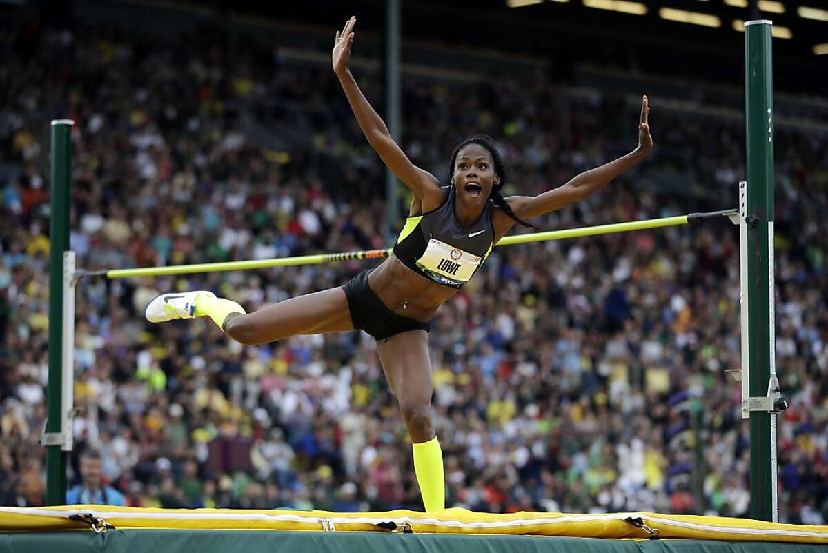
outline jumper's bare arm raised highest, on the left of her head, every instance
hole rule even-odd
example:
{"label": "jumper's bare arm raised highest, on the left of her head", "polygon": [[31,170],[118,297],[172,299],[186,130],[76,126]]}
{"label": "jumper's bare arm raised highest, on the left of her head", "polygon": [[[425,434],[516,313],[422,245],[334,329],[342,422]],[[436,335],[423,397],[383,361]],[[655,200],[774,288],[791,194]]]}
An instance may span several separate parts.
{"label": "jumper's bare arm raised highest, on the left of her head", "polygon": [[351,75],[348,60],[351,56],[351,45],[354,44],[352,31],[356,22],[357,18],[351,17],[345,22],[342,31],[336,31],[332,60],[334,72],[339,77],[339,83],[342,84],[351,109],[354,110],[359,128],[362,129],[368,139],[368,144],[378,153],[383,163],[399,180],[412,189],[417,198],[422,200],[430,194],[441,194],[440,183],[436,177],[415,166],[408,159],[402,148],[394,142],[383,119],[373,110],[368,99],[365,99],[362,91],[359,90],[354,75]]}

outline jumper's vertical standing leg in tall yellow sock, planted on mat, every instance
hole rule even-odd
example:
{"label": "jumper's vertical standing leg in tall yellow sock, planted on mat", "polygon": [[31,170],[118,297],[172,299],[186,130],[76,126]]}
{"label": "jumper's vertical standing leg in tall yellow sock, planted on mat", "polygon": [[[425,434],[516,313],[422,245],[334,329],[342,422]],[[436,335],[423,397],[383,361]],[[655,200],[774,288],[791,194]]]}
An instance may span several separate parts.
{"label": "jumper's vertical standing leg in tall yellow sock, planted on mat", "polygon": [[426,512],[445,508],[443,453],[431,426],[431,359],[425,330],[377,340],[379,361],[400,404],[414,447],[414,472]]}

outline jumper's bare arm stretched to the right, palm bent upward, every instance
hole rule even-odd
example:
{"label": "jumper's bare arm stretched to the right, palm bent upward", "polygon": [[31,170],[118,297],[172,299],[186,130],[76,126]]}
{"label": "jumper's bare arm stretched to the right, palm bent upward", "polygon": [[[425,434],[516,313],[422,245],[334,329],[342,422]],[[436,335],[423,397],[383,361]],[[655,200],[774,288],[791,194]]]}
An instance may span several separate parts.
{"label": "jumper's bare arm stretched to the right, palm bent upward", "polygon": [[566,185],[558,186],[541,195],[535,197],[509,196],[506,201],[518,217],[527,219],[561,209],[567,204],[584,200],[595,194],[595,192],[604,188],[610,180],[627,171],[650,153],[652,137],[650,136],[649,123],[647,123],[649,113],[649,102],[647,96],[644,96],[641,100],[641,121],[638,123],[638,147],[626,156],[595,167],[595,169],[590,169],[590,171],[584,171],[567,182]]}

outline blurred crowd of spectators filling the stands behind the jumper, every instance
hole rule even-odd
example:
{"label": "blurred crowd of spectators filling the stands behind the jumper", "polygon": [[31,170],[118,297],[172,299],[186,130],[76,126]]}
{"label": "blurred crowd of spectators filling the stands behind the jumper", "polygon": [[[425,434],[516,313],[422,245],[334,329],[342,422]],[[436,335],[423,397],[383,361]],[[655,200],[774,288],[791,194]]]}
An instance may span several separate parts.
{"label": "blurred crowd of spectators filling the stands behind the jumper", "polygon": [[[228,60],[199,36],[0,33],[0,158],[21,168],[0,182],[0,504],[35,506],[51,118],[76,121],[71,248],[88,269],[388,246],[383,166],[330,67],[255,46]],[[381,97],[376,75],[354,73]],[[403,147],[445,178],[455,143],[489,133],[511,166],[507,192],[524,195],[634,147],[634,103],[554,82],[407,78]],[[278,134],[269,106],[279,103],[298,106],[291,130],[310,147],[272,147],[245,130],[253,114]],[[538,228],[735,204],[744,123],[651,103],[652,156]],[[777,370],[791,399],[779,417],[780,520],[825,523],[828,144],[783,128],[776,137]],[[722,219],[495,249],[431,332],[447,504],[747,515],[749,430],[724,373],[739,367],[737,236]],[[101,479],[110,497],[141,507],[421,509],[367,334],[243,348],[209,320],[143,319],[159,291],[207,288],[249,312],[364,266],[81,281],[72,483]],[[82,454],[97,468],[82,470]]]}

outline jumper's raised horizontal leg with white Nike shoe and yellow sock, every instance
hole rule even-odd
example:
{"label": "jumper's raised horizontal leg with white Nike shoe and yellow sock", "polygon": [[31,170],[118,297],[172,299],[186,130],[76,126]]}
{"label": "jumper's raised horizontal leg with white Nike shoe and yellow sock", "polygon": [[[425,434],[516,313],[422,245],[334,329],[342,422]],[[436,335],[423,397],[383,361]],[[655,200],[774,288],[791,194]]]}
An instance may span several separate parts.
{"label": "jumper's raised horizontal leg with white Nike shoe and yellow sock", "polygon": [[165,294],[147,305],[147,320],[151,322],[199,316],[209,316],[230,338],[244,345],[267,344],[296,334],[354,329],[341,287],[280,301],[249,315],[235,301],[206,291]]}

